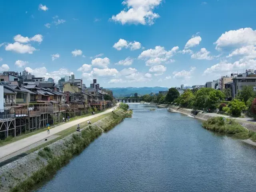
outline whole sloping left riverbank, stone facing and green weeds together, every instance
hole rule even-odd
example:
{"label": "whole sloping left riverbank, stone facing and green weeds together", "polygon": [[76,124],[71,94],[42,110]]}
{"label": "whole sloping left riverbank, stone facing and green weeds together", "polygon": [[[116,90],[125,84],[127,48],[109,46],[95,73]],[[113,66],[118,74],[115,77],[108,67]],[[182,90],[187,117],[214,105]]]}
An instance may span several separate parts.
{"label": "whole sloping left riverbank, stone facing and green weeds together", "polygon": [[59,168],[82,152],[90,142],[108,131],[132,111],[118,109],[113,114],[0,168],[0,192],[25,192],[54,174]]}

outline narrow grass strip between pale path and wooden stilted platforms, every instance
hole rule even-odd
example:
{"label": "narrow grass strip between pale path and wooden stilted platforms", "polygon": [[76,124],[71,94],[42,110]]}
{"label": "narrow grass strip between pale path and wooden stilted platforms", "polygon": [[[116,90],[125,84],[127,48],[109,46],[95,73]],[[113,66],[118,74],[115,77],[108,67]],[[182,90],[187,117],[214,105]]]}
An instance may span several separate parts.
{"label": "narrow grass strip between pale path and wooden stilted platforms", "polygon": [[[108,109],[106,109],[106,110],[108,110]],[[101,113],[101,112],[104,112],[104,111],[105,111],[105,110],[98,111],[98,112],[95,112],[95,114],[98,114],[98,113]],[[74,117],[74,118],[70,118],[69,121],[71,122],[71,121],[78,120],[78,119],[80,119],[80,118],[88,117],[88,116],[91,116],[91,115],[92,115],[92,114],[85,114],[85,115],[82,115],[82,116],[76,116],[76,117]],[[64,123],[66,123],[66,122],[64,122]],[[58,123],[58,124],[55,124],[55,125],[51,126],[51,128],[54,128],[55,126],[59,126],[59,125],[64,124],[64,123],[63,123],[63,122],[60,122],[60,123]],[[7,144],[10,144],[10,143],[12,143],[12,142],[16,142],[16,141],[18,141],[18,140],[27,138],[27,137],[29,137],[29,136],[38,134],[38,133],[40,133],[40,132],[44,132],[44,131],[46,131],[46,127],[40,128],[39,130],[36,130],[36,131],[27,132],[27,133],[22,133],[21,135],[16,136],[16,137],[9,136],[9,137],[7,137],[7,138],[4,139],[4,140],[0,140],[0,147],[1,147],[1,146],[4,146],[4,145],[7,145]]]}

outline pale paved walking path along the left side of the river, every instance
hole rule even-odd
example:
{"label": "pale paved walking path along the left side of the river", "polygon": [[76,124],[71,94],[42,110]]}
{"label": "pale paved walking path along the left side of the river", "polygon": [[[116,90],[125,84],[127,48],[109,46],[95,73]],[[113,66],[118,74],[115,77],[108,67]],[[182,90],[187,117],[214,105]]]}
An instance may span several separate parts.
{"label": "pale paved walking path along the left side of the river", "polygon": [[62,125],[59,125],[59,126],[55,126],[54,128],[50,129],[50,134],[47,134],[46,133],[46,130],[45,132],[40,132],[38,134],[35,134],[35,135],[32,135],[32,136],[29,136],[27,138],[24,138],[24,139],[21,139],[21,140],[18,140],[16,142],[12,142],[10,144],[7,144],[7,145],[4,145],[2,147],[0,147],[0,158],[3,158],[4,156],[7,156],[7,155],[10,155],[18,150],[21,150],[23,148],[26,148],[27,146],[30,146],[40,140],[43,140],[43,139],[46,139],[62,130],[65,130],[67,128],[70,128],[74,125],[77,125],[78,123],[82,123],[84,121],[87,121],[87,120],[90,120],[94,117],[98,117],[100,115],[103,115],[103,114],[106,114],[106,113],[109,113],[109,112],[112,112],[112,109],[108,109],[104,112],[101,112],[101,113],[98,113],[98,114],[95,114],[95,115],[91,115],[91,116],[87,116],[87,117],[84,117],[84,118],[80,118],[78,120],[74,120],[74,121],[71,121],[71,122],[67,122],[67,123],[64,123]]}

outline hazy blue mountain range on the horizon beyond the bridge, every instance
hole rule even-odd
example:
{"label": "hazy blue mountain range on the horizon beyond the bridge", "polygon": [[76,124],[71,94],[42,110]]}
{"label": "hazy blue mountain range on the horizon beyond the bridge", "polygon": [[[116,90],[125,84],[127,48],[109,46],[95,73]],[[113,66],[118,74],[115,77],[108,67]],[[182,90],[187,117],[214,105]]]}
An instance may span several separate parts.
{"label": "hazy blue mountain range on the horizon beyond the bridge", "polygon": [[134,93],[138,95],[145,95],[150,93],[158,93],[159,91],[166,91],[167,87],[126,87],[126,88],[107,88],[113,91],[114,97],[129,97]]}

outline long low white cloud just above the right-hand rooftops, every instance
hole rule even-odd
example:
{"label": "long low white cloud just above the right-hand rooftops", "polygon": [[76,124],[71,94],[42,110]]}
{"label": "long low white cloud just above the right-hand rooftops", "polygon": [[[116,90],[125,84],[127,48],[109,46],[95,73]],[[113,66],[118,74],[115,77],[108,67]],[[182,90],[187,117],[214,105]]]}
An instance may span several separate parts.
{"label": "long low white cloud just above the right-hand rooftops", "polygon": [[245,58],[242,58],[239,61],[236,61],[234,63],[230,63],[224,60],[219,62],[218,64],[211,66],[210,68],[207,68],[204,71],[204,75],[209,75],[209,74],[227,75],[232,72],[237,72],[237,71],[242,72],[244,68],[256,68],[256,60],[253,60],[253,59],[247,60]]}

